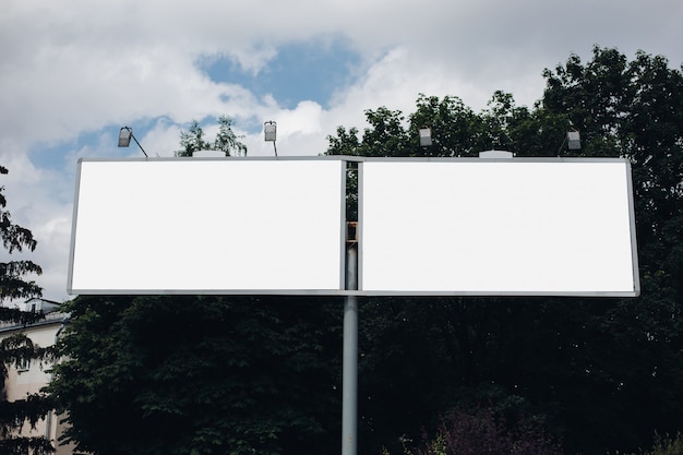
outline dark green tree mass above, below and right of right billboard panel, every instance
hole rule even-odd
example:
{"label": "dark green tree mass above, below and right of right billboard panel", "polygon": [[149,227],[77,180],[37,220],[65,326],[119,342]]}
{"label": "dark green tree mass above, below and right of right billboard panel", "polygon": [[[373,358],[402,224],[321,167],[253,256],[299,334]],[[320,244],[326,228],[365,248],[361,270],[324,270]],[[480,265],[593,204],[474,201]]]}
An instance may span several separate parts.
{"label": "dark green tree mass above, below and right of right billboard panel", "polygon": [[[559,147],[577,129],[580,156],[633,165],[642,296],[368,299],[359,366],[366,446],[399,450],[400,435],[436,426],[439,414],[489,400],[587,454],[646,446],[654,430],[683,422],[682,73],[663,57],[628,61],[596,47],[590,61],[571,56],[543,74],[543,99],[531,109],[503,92],[480,113],[457,98],[420,96],[407,122],[380,108],[367,111],[361,136],[339,128],[328,153],[567,156]],[[420,125],[432,127],[432,147],[419,147]]]}

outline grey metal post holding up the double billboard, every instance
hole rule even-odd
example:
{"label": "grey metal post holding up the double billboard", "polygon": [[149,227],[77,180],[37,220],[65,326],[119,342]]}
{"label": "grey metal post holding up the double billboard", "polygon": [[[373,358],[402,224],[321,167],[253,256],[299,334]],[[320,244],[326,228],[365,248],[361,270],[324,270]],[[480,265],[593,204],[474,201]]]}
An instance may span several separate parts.
{"label": "grey metal post holding up the double billboard", "polygon": [[[346,288],[358,289],[358,243],[347,242]],[[342,455],[358,447],[358,297],[344,298],[344,364],[342,382]]]}

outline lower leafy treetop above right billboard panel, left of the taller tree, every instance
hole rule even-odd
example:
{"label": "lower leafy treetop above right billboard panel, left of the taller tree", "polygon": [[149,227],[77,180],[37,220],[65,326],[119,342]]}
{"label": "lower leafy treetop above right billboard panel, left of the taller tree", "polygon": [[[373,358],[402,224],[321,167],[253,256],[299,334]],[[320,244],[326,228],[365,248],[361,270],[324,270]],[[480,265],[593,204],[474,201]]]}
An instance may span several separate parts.
{"label": "lower leafy treetop above right billboard panel, left of the taller tree", "polygon": [[[488,149],[508,149],[520,156],[553,156],[566,133],[566,115],[515,105],[512,94],[495,92],[488,108],[475,113],[454,96],[420,95],[416,111],[406,117],[381,107],[367,110],[370,124],[338,127],[327,137],[327,155],[472,157]],[[430,127],[432,143],[419,145],[418,130]]]}

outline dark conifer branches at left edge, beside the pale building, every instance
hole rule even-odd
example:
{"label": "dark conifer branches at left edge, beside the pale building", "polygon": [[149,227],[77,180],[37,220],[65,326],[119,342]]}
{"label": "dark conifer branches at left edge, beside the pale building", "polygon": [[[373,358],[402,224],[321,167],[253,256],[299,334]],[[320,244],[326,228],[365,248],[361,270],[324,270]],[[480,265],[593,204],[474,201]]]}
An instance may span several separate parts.
{"label": "dark conifer branches at left edge, beside the pale building", "polygon": [[[0,175],[7,175],[8,169],[0,166]],[[10,212],[5,211],[7,199],[0,187],[0,236],[2,244],[11,254],[22,252],[24,248],[34,251],[37,241],[31,230],[12,221]],[[40,287],[35,282],[25,280],[24,275],[40,274],[40,266],[32,261],[9,261],[0,263],[0,321],[17,324],[31,324],[41,318],[40,314],[25,313],[15,309],[4,308],[5,300],[31,298],[40,296]],[[45,436],[19,436],[17,432],[28,423],[35,428],[38,420],[44,419],[52,409],[49,397],[44,394],[28,395],[24,400],[8,402],[4,391],[4,379],[8,368],[12,364],[32,359],[49,358],[51,351],[41,349],[23,333],[11,335],[0,342],[0,453],[17,455],[41,455],[51,453],[55,448]]]}

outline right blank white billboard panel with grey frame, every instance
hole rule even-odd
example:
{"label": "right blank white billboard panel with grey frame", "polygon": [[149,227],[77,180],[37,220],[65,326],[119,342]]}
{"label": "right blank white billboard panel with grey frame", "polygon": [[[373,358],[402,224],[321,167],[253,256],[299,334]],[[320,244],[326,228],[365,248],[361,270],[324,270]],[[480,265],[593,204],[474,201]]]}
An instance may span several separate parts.
{"label": "right blank white billboard panel with grey frame", "polygon": [[360,185],[369,295],[639,291],[625,160],[369,160]]}

